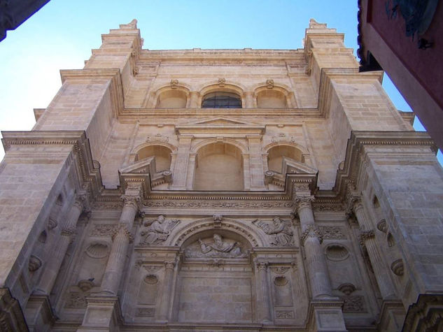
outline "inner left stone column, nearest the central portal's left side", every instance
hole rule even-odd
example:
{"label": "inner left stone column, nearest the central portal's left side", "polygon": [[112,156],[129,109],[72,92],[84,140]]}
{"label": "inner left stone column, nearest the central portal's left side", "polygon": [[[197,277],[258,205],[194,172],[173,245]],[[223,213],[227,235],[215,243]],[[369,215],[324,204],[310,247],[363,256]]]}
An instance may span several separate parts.
{"label": "inner left stone column, nearest the central portal's left side", "polygon": [[126,252],[132,241],[131,230],[134,225],[136,212],[139,210],[140,196],[124,195],[124,202],[120,221],[113,235],[113,244],[108,263],[104,272],[101,289],[105,293],[115,295],[125,266]]}

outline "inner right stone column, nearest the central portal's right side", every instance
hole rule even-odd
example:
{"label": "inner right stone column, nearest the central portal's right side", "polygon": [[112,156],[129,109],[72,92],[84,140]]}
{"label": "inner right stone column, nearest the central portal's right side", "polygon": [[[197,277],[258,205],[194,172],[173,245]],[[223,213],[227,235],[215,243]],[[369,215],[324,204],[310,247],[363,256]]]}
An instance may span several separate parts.
{"label": "inner right stone column, nearest the central portal's right side", "polygon": [[332,289],[325,255],[321,248],[323,237],[314,224],[311,201],[314,201],[314,196],[297,196],[296,198],[297,212],[302,226],[301,242],[306,254],[312,298],[330,298]]}

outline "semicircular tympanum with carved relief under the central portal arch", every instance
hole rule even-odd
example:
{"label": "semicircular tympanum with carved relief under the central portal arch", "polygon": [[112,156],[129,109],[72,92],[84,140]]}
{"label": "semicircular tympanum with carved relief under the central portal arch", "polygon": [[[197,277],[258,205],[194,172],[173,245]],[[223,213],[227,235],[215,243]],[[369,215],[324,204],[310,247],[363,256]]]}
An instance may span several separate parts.
{"label": "semicircular tympanum with carved relief under the central portal arch", "polygon": [[245,259],[252,245],[239,233],[206,229],[192,234],[181,245],[186,259]]}

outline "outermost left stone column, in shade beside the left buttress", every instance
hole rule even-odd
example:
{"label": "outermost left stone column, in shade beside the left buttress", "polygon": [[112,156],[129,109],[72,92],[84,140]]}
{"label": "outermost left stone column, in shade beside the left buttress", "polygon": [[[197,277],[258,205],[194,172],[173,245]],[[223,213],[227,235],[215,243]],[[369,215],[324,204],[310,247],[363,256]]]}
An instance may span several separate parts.
{"label": "outermost left stone column, in shade beside the left buttress", "polygon": [[85,196],[77,196],[71,209],[69,210],[66,224],[62,229],[62,234],[55,245],[50,260],[48,261],[43,275],[40,278],[36,293],[37,294],[50,294],[52,287],[54,286],[55,279],[59,273],[60,266],[64,259],[64,255],[68,250],[69,243],[73,241],[76,234],[76,224],[80,217],[83,208],[85,207]]}

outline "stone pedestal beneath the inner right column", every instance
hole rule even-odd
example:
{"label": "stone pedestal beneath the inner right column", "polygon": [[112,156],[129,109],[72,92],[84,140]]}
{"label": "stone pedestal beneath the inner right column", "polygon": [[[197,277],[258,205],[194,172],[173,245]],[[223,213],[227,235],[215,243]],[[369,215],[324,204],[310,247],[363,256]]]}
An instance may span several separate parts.
{"label": "stone pedestal beneath the inner right column", "polygon": [[343,301],[319,300],[309,303],[310,331],[348,331],[342,312]]}

